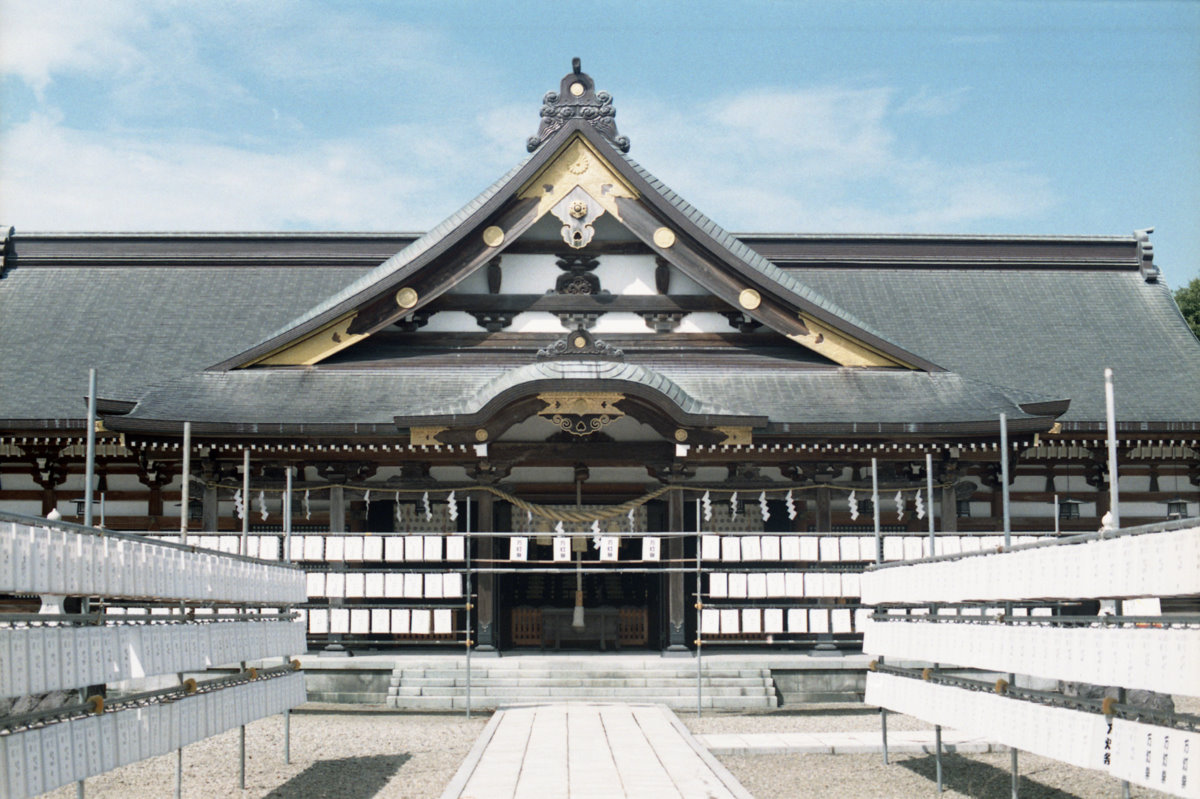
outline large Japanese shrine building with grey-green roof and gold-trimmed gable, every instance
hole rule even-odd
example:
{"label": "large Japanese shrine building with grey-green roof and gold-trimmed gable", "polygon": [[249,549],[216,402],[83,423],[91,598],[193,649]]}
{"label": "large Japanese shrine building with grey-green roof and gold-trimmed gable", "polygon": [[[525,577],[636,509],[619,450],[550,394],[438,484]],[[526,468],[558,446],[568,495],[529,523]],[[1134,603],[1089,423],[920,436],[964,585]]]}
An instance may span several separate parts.
{"label": "large Japanese shrine building with grey-green roof and gold-trimmed gable", "polygon": [[[246,528],[278,558],[289,509],[314,645],[545,645],[578,602],[626,648],[853,645],[812,614],[858,607],[876,513],[889,558],[928,552],[929,515],[955,548],[995,543],[1001,416],[1014,535],[1099,528],[1111,368],[1122,524],[1196,513],[1200,342],[1150,232],[727,233],[630,156],[577,60],[534,127],[420,235],[11,220],[0,511],[83,519],[95,370],[95,518],[182,515],[220,548]],[[701,601],[757,620],[700,630]]]}

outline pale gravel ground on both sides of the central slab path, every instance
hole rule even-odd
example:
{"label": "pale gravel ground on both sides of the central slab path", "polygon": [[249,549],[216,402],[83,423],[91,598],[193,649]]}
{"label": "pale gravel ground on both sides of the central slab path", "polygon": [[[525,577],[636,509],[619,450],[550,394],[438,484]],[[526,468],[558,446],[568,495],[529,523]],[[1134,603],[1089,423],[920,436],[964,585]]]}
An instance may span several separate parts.
{"label": "pale gravel ground on both sides of the central slab path", "polygon": [[[1182,709],[1182,708],[1181,708]],[[1190,708],[1189,708],[1190,709]],[[694,733],[878,731],[878,713],[858,704],[812,705],[800,710],[696,719],[680,713]],[[424,799],[442,794],[486,716],[408,714],[344,705],[305,707],[292,716],[292,764],[283,763],[281,716],[246,728],[246,791],[238,791],[238,732],[192,744],[184,750],[185,798],[253,797],[269,799]],[[928,729],[896,714],[889,729]],[[883,765],[878,755],[760,755],[719,758],[757,799],[930,799],[934,758],[896,755]],[[947,755],[947,799],[1009,799],[1009,757]],[[1121,795],[1120,783],[1090,771],[1022,752],[1022,799],[1100,799]],[[175,757],[156,757],[92,777],[89,799],[157,799],[173,795]],[[73,787],[54,799],[73,799]],[[1133,788],[1133,795],[1165,794]],[[545,799],[554,799],[546,797]]]}

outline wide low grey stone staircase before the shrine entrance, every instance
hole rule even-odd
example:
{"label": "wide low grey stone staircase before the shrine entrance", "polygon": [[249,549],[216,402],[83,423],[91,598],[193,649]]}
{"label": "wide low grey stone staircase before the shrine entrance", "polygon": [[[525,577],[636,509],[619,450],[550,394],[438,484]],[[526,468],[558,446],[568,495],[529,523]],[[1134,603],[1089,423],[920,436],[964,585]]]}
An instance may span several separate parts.
{"label": "wide low grey stone staircase before the shrine entrance", "polygon": [[[656,702],[672,709],[696,708],[696,663],[661,657],[623,659],[476,659],[470,669],[470,707],[494,709],[533,702]],[[404,710],[452,710],[467,707],[467,669],[461,663],[414,667],[401,663],[391,674],[388,707]],[[761,665],[707,666],[701,678],[701,707],[761,710],[778,707],[770,669]]]}

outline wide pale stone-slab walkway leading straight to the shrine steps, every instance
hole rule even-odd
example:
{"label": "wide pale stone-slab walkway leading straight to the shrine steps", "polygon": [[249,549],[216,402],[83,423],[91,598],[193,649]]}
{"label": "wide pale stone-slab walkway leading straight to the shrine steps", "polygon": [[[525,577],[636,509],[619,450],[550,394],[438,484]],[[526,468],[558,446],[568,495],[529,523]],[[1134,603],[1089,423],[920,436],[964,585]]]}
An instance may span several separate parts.
{"label": "wide pale stone-slab walkway leading straight to the shrine steps", "polygon": [[656,704],[503,708],[442,799],[751,799]]}

